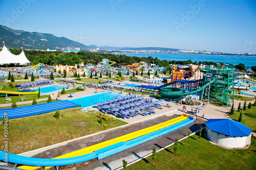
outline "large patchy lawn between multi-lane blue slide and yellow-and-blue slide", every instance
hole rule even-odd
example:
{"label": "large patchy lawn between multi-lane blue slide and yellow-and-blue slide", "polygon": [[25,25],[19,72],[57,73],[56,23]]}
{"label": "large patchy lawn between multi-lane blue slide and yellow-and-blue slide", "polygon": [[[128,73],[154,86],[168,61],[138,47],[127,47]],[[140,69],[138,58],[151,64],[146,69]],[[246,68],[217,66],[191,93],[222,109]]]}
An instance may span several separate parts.
{"label": "large patchy lawn between multi-lane blue slide and yellow-and-blue slide", "polygon": [[[105,129],[112,129],[125,122],[103,119],[99,124],[99,112],[81,112],[81,108],[60,110],[60,117],[54,118],[55,112],[9,120],[9,153],[20,154],[34,149],[47,147],[55,143],[86,136]],[[104,117],[104,116],[102,116]],[[104,129],[103,125],[107,125]],[[4,150],[4,127],[0,124],[0,150]]]}

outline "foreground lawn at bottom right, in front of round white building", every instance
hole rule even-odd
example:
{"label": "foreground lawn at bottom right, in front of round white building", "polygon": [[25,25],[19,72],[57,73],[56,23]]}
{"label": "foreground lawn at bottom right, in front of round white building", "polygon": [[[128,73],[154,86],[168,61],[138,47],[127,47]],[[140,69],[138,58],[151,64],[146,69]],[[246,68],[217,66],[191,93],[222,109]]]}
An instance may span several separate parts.
{"label": "foreground lawn at bottom right, in front of round white building", "polygon": [[[153,150],[154,145],[152,145]],[[136,162],[126,169],[255,169],[256,139],[251,139],[251,145],[246,150],[227,150],[211,144],[208,140],[193,135],[182,140],[177,145],[174,155],[174,145],[156,153],[153,166],[152,157],[149,156]]]}

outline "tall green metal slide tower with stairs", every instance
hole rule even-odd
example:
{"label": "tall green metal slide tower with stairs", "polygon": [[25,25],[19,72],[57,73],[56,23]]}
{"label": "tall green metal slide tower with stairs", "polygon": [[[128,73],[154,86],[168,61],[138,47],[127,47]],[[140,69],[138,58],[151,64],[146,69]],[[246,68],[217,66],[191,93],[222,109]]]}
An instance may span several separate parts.
{"label": "tall green metal slide tower with stairs", "polygon": [[[234,102],[234,69],[233,66],[205,67],[200,69],[205,77],[212,74],[212,82],[209,86],[202,89],[201,100],[203,96],[208,98],[209,103],[222,104],[228,106],[230,99]],[[210,80],[205,79],[204,84]]]}

